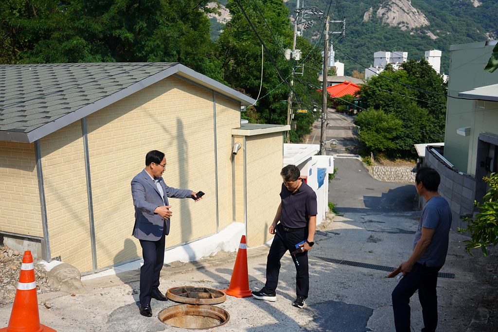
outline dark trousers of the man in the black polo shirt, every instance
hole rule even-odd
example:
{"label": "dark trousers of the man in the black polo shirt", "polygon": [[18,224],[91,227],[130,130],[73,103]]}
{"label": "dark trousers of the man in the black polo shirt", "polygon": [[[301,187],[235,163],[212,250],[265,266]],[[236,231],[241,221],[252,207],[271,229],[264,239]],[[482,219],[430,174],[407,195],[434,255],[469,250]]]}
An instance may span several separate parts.
{"label": "dark trousers of the man in the black polo shirt", "polygon": [[[270,294],[277,289],[278,274],[280,273],[280,259],[288,250],[296,250],[296,244],[302,242],[308,237],[308,229],[296,232],[286,232],[282,225],[276,227],[277,233],[271,242],[270,251],[266,260],[266,283],[261,292]],[[299,266],[296,264],[296,259]],[[308,274],[308,252],[301,252],[292,257],[296,267],[296,295],[305,299],[309,292],[309,274]]]}

